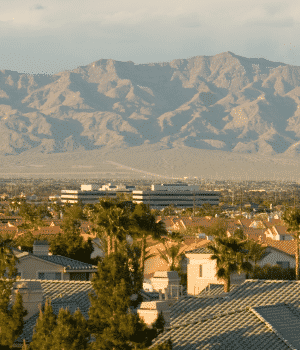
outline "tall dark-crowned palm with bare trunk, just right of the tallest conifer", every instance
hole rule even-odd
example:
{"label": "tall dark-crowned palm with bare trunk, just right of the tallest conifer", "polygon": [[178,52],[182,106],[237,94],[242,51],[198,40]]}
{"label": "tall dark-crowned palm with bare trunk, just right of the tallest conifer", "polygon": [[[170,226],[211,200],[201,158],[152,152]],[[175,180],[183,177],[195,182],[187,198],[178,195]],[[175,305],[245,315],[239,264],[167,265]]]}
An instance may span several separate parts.
{"label": "tall dark-crowned palm with bare trunk, just right of the tallest conifer", "polygon": [[[146,260],[147,238],[151,236],[154,240],[160,240],[161,236],[167,235],[164,222],[156,222],[155,215],[151,213],[149,206],[141,203],[137,204],[132,214],[134,226],[132,235],[135,239],[141,239],[141,269],[144,273]],[[148,259],[152,256],[148,256]]]}

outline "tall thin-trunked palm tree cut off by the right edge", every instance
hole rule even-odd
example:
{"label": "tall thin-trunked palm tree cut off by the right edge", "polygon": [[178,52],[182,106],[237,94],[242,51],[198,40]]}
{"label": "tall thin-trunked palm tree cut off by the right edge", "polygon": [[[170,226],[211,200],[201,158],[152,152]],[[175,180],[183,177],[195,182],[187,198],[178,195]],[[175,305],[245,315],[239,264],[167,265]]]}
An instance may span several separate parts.
{"label": "tall thin-trunked palm tree cut off by the right edge", "polygon": [[287,226],[287,232],[293,236],[296,244],[295,258],[295,276],[299,280],[299,234],[300,234],[300,210],[298,208],[287,209],[282,217]]}

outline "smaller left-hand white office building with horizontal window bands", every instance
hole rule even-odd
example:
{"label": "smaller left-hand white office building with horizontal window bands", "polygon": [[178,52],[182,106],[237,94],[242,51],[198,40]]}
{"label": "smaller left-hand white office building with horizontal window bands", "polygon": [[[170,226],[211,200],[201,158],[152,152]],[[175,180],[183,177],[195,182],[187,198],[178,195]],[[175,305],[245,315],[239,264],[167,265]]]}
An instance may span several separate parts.
{"label": "smaller left-hand white office building with horizontal window bands", "polygon": [[81,190],[61,190],[62,203],[78,203],[80,200],[83,204],[98,203],[100,198],[115,198],[116,192],[100,191],[96,189],[97,185],[81,185]]}

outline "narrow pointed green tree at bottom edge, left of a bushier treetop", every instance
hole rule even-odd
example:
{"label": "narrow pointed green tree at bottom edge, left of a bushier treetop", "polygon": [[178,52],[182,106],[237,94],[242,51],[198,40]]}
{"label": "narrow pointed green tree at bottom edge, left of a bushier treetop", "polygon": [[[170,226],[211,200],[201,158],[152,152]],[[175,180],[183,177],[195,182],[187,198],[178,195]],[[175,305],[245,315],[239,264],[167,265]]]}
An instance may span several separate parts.
{"label": "narrow pointed green tree at bottom edge, left of a bushier treetop", "polygon": [[56,327],[57,316],[54,314],[51,301],[47,300],[44,312],[41,309],[34,327],[30,350],[52,350],[53,332]]}

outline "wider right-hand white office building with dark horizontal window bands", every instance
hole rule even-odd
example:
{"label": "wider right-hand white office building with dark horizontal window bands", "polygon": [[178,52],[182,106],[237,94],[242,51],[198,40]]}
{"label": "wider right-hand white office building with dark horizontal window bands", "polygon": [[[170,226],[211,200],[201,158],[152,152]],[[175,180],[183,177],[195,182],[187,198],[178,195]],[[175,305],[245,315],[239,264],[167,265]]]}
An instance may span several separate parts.
{"label": "wider right-hand white office building with dark horizontal window bands", "polygon": [[152,209],[163,209],[170,204],[177,208],[201,207],[204,203],[218,205],[219,192],[200,191],[199,186],[185,183],[152,185],[148,191],[133,191],[135,203],[149,204]]}

